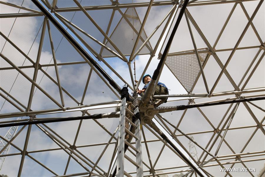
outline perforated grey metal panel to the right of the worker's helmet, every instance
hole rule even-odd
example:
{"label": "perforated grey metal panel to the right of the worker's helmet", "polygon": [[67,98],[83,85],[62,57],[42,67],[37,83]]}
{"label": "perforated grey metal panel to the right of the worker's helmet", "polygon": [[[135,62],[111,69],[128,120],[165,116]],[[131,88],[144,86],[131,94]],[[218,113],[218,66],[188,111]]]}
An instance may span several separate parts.
{"label": "perforated grey metal panel to the right of the worker's helmet", "polygon": [[[199,55],[201,56],[200,62],[202,64],[207,53],[200,53]],[[190,91],[200,72],[196,54],[169,56],[167,57],[166,64],[185,89]]]}

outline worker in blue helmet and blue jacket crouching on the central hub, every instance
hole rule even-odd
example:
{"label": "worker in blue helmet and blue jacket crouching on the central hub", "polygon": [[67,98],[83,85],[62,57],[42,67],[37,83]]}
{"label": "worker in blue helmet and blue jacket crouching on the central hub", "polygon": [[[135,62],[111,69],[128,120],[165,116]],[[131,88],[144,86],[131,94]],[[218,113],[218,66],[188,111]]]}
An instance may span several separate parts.
{"label": "worker in blue helmet and blue jacket crouching on the central hub", "polygon": [[[151,81],[151,76],[149,74],[145,74],[142,79],[145,86],[142,90],[138,90],[138,94],[144,94],[145,90],[149,86],[149,82]],[[168,88],[165,86],[165,84],[158,81],[157,86],[155,87],[155,93],[154,95],[168,95]],[[153,99],[153,103],[155,107],[158,107],[162,103],[166,103],[168,98],[155,98]]]}

